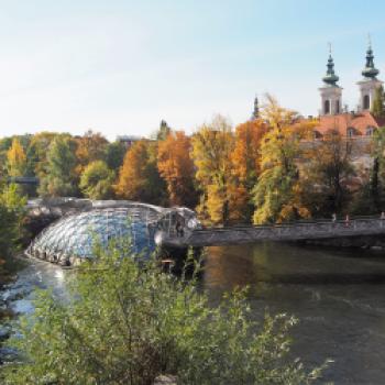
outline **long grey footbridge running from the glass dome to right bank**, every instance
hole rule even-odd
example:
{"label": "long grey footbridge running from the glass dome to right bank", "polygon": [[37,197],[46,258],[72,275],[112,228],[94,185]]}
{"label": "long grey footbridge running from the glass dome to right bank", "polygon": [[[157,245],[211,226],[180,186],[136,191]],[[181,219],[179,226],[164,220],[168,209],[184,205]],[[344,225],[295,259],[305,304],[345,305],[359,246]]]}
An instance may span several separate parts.
{"label": "long grey footbridge running from the glass dome to right bank", "polygon": [[[349,221],[312,221],[273,226],[234,226],[223,228],[166,229],[157,234],[157,243],[166,246],[210,246],[258,241],[321,241],[385,235],[385,219],[361,217]],[[315,242],[317,243],[317,242]]]}

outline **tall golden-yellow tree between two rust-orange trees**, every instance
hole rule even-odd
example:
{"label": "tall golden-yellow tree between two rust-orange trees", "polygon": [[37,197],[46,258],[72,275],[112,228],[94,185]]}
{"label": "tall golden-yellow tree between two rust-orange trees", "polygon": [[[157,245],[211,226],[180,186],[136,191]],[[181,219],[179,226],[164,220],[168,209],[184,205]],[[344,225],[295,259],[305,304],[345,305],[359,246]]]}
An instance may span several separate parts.
{"label": "tall golden-yellow tree between two rust-orange trees", "polygon": [[198,212],[213,223],[227,223],[232,212],[231,154],[234,138],[230,123],[221,116],[204,124],[193,135],[191,156],[201,190]]}

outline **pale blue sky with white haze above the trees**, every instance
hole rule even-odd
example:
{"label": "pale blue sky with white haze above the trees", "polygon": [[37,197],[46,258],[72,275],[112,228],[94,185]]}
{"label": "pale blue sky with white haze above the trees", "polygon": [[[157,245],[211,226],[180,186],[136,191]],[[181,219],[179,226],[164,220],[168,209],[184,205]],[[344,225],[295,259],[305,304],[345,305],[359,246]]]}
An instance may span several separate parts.
{"label": "pale blue sky with white haze above the trees", "polygon": [[328,42],[353,109],[369,33],[385,80],[384,14],[383,0],[0,0],[0,136],[191,132],[244,122],[266,92],[317,114]]}

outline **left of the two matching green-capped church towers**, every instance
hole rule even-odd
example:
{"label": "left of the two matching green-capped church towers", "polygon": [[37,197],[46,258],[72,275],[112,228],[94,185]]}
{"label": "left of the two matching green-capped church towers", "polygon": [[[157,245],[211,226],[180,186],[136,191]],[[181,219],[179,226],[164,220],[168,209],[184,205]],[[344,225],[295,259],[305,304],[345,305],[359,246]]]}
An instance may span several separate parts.
{"label": "left of the two matching green-capped church towers", "polygon": [[342,88],[337,84],[339,77],[334,74],[334,62],[331,57],[331,50],[327,67],[327,74],[322,78],[323,86],[319,88],[322,102],[321,114],[334,116],[341,113]]}

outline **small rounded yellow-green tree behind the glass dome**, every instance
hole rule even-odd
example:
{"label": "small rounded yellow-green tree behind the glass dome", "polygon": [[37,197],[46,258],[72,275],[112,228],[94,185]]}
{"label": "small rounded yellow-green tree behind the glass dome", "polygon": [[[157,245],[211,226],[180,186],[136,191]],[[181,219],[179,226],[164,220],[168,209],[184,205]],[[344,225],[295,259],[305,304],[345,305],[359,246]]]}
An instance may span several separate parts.
{"label": "small rounded yellow-green tree behind the glass dome", "polygon": [[90,199],[108,199],[112,196],[114,173],[103,161],[91,162],[80,176],[80,190]]}

